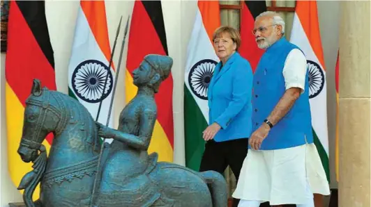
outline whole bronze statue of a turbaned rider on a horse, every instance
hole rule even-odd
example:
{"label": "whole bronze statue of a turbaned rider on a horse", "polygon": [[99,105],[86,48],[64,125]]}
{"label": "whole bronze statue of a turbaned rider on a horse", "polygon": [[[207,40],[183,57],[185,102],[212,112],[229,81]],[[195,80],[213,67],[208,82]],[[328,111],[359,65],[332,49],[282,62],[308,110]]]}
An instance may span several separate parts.
{"label": "whole bronze statue of a turbaned rider on a horse", "polygon": [[[157,162],[157,154],[147,152],[157,117],[154,95],[171,67],[172,58],[148,55],[132,72],[138,91],[123,108],[118,130],[94,122],[77,100],[42,89],[34,80],[18,149],[24,162],[33,162],[33,171],[18,187],[24,189],[26,206],[226,207],[221,174]],[[54,133],[54,140],[47,158],[41,143],[48,133]],[[98,167],[100,137],[114,141],[104,144]],[[38,183],[40,199],[32,201]]]}

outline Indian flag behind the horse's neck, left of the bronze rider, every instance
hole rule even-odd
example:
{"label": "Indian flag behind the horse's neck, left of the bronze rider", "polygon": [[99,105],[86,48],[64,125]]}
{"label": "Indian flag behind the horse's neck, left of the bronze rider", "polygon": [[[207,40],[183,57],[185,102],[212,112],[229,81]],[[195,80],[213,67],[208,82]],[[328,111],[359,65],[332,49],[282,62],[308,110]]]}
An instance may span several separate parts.
{"label": "Indian flag behind the horse's neck, left of the bronze rider", "polygon": [[[108,69],[110,58],[105,1],[80,1],[68,65],[68,94],[82,103],[93,119],[98,117],[98,122],[104,125],[107,124],[115,81],[113,64]],[[101,108],[100,101],[103,101]],[[113,126],[112,113],[108,126]]]}

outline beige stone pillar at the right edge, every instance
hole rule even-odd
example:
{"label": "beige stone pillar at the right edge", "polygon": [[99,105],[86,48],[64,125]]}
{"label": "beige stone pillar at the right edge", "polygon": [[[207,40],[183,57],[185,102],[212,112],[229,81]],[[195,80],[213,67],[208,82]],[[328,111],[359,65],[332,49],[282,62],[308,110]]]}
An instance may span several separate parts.
{"label": "beige stone pillar at the right edge", "polygon": [[340,4],[339,206],[370,207],[370,1]]}

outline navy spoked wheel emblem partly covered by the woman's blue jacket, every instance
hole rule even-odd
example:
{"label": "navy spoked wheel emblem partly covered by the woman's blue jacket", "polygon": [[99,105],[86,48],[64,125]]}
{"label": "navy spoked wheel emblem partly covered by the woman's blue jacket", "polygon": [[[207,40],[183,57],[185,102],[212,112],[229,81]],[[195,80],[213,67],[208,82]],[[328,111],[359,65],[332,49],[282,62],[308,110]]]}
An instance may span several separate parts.
{"label": "navy spoked wheel emblem partly covered by the woman's blue jacket", "polygon": [[188,83],[196,97],[207,100],[207,90],[216,64],[215,60],[205,59],[200,60],[190,69]]}

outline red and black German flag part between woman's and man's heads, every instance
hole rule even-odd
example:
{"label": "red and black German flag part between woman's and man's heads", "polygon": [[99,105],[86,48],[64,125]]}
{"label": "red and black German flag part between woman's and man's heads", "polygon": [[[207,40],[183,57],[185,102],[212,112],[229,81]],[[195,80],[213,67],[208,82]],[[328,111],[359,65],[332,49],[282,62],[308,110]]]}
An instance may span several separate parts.
{"label": "red and black German flag part between woman's and man's heads", "polygon": [[255,18],[266,11],[266,1],[244,1],[241,11],[241,47],[239,53],[246,58],[255,72],[264,50],[257,47],[255,36],[252,34]]}

